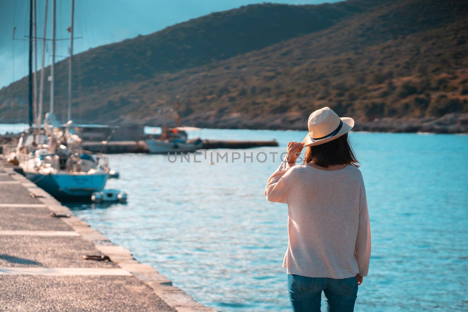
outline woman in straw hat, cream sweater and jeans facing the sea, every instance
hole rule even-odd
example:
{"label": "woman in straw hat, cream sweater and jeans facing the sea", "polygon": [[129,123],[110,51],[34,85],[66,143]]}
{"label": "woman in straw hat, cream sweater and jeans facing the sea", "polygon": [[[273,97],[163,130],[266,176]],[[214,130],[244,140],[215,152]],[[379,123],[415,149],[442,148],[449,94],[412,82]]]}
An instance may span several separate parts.
{"label": "woman in straw hat, cream sweater and jeans facing the sea", "polygon": [[[348,142],[354,126],[329,107],[314,111],[309,133],[289,142],[288,156],[271,175],[265,196],[288,204],[288,273],[292,311],[354,310],[358,285],[367,276],[371,232],[366,189]],[[308,146],[304,164],[295,165]]]}

